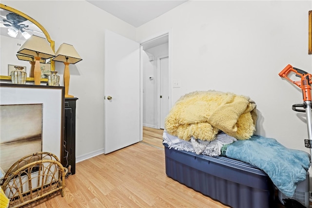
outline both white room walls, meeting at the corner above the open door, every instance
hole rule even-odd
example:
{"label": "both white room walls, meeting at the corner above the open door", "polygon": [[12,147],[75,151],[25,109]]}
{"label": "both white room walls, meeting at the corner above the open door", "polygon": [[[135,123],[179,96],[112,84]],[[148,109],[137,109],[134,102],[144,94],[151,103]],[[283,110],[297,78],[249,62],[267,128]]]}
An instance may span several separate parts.
{"label": "both white room walls, meeting at the corner above the open door", "polygon": [[[257,134],[308,151],[303,142],[307,138],[304,116],[292,111],[292,104],[302,103],[301,90],[278,73],[287,64],[312,73],[312,56],[308,55],[310,0],[191,0],[137,29],[81,0],[1,3],[39,21],[56,49],[63,42],[73,44],[83,59],[70,65],[69,94],[79,98],[78,158],[104,146],[105,28],[137,42],[172,29],[172,80],[181,81],[180,88],[172,88],[172,104],[195,90],[250,96],[259,113]],[[63,68],[62,63],[56,64],[61,77]]]}

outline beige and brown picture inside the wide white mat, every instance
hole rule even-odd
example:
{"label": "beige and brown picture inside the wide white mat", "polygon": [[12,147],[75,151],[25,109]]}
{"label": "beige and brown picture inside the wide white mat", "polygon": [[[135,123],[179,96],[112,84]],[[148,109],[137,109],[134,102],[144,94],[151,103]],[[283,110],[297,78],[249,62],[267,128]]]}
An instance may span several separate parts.
{"label": "beige and brown picture inside the wide white mat", "polygon": [[7,172],[21,157],[42,152],[42,104],[0,105],[0,119],[0,163]]}

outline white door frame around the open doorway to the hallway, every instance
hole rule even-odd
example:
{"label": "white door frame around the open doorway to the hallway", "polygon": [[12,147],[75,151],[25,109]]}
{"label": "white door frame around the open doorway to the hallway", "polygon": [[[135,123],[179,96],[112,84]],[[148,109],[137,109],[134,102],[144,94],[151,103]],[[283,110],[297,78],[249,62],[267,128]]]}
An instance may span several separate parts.
{"label": "white door frame around the open doorway to the hallway", "polygon": [[[155,34],[153,36],[148,37],[147,39],[142,40],[140,43],[140,141],[143,140],[143,47],[142,44],[155,41],[158,38],[161,38],[163,36],[168,35],[168,62],[169,62],[169,70],[168,70],[168,80],[169,80],[169,86],[168,86],[168,94],[169,94],[169,109],[172,107],[172,28],[170,30]],[[157,66],[158,67],[158,66]],[[158,70],[158,69],[157,69]],[[157,72],[158,73],[158,72]],[[157,103],[160,108],[160,98],[159,98],[159,87],[157,86]],[[158,106],[157,106],[158,107]],[[158,113],[160,114],[160,111],[158,110]],[[157,114],[158,114],[157,113]],[[159,120],[160,115],[157,115],[157,118]],[[157,127],[160,127],[160,121],[157,122]]]}

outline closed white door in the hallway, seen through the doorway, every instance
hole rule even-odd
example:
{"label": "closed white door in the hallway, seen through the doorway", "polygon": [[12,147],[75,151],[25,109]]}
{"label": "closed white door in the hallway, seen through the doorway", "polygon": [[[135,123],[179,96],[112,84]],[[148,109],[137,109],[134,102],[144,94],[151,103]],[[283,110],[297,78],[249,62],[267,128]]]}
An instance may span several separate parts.
{"label": "closed white door in the hallway, seen through the doorway", "polygon": [[165,128],[169,113],[169,58],[160,59],[160,128]]}

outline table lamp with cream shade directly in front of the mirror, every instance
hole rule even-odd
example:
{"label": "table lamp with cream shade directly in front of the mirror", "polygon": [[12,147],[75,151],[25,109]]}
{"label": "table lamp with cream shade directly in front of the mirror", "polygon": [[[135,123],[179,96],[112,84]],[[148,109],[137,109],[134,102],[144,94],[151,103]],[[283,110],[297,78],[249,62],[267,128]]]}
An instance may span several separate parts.
{"label": "table lamp with cream shade directly in front of the mirror", "polygon": [[55,53],[52,50],[49,42],[45,38],[32,35],[20,47],[18,53],[35,58],[36,62],[34,67],[34,81],[36,85],[40,85],[41,79],[40,59],[41,58],[50,59],[52,57],[55,57]]}

